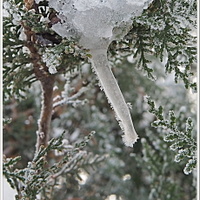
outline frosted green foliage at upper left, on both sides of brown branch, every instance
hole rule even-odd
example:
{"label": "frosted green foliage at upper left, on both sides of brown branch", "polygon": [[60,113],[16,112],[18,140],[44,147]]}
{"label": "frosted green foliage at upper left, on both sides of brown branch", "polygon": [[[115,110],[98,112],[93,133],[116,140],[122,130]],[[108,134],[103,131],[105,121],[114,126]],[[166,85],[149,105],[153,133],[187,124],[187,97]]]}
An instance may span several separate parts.
{"label": "frosted green foliage at upper left, on both sides of brown branch", "polygon": [[[54,60],[60,60],[59,73],[74,70],[80,62],[85,61],[87,56],[74,42],[62,40],[55,34],[46,22],[44,17],[52,12],[48,4],[39,4],[38,13],[26,11],[23,1],[9,0],[4,4],[5,16],[3,16],[3,89],[4,99],[10,97],[20,99],[25,96],[27,89],[37,79],[33,71],[33,64],[30,62],[30,51],[27,48],[24,26],[32,27],[37,44],[33,44],[38,52],[59,55]],[[45,36],[47,35],[47,36]],[[45,39],[50,37],[50,39]],[[43,55],[44,56],[44,55]],[[15,77],[13,79],[13,77]]]}

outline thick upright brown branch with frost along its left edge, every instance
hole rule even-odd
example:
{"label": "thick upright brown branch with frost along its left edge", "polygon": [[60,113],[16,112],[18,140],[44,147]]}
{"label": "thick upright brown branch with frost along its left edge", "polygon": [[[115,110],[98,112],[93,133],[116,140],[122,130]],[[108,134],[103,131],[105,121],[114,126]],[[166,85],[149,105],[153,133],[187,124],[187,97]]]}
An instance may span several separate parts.
{"label": "thick upright brown branch with frost along its left edge", "polygon": [[40,118],[38,120],[37,143],[36,151],[41,146],[47,146],[50,124],[53,109],[53,86],[55,82],[55,75],[48,72],[48,67],[41,61],[41,55],[38,53],[38,48],[35,45],[35,33],[30,27],[22,23],[24,32],[27,37],[26,46],[30,51],[30,58],[33,64],[36,78],[40,81],[42,87],[42,108]]}

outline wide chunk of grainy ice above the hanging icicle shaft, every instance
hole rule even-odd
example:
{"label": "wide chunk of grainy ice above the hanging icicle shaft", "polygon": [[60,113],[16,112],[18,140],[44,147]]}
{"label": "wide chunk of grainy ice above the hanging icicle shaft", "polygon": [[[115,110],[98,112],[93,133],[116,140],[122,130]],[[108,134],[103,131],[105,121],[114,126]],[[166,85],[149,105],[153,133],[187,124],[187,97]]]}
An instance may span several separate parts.
{"label": "wide chunk of grainy ice above the hanging icicle shaft", "polygon": [[[71,38],[80,38],[88,49],[107,48],[110,42],[124,37],[131,28],[131,18],[142,13],[152,0],[49,0],[49,6],[59,12],[61,24],[53,29]],[[118,27],[119,31],[113,31]],[[126,28],[125,28],[126,27]]]}

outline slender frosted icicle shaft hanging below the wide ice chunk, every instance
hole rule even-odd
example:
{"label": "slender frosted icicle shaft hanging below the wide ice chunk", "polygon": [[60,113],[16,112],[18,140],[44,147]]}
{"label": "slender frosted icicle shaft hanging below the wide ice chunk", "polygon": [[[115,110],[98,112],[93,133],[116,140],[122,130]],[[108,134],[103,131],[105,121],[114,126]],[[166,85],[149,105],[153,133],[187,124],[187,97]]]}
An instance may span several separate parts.
{"label": "slender frosted icicle shaft hanging below the wide ice chunk", "polygon": [[126,104],[117,81],[109,67],[106,49],[91,50],[91,62],[99,78],[100,84],[113,107],[117,121],[124,132],[122,136],[126,146],[132,147],[137,141],[137,134],[134,129],[128,105]]}

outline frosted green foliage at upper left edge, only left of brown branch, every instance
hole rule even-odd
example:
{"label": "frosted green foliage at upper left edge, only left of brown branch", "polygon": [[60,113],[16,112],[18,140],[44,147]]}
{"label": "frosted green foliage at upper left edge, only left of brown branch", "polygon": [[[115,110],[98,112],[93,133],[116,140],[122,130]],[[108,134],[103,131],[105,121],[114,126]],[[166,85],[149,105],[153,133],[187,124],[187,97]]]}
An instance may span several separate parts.
{"label": "frosted green foliage at upper left edge, only left of brown branch", "polygon": [[[24,86],[34,80],[28,54],[23,51],[24,42],[20,39],[22,27],[20,20],[24,15],[21,1],[5,1],[3,16],[3,89],[4,97],[22,96]],[[15,79],[13,79],[15,77]]]}

